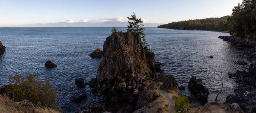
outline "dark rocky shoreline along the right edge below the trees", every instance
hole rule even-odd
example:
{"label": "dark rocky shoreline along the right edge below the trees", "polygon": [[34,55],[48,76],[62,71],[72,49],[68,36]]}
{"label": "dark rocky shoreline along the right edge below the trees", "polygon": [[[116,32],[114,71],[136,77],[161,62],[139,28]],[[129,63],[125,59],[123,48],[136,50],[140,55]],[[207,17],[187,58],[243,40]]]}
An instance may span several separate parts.
{"label": "dark rocky shoreline along the right edge below the trees", "polygon": [[[226,102],[237,103],[246,113],[256,113],[256,43],[248,39],[230,36],[219,36],[219,38],[239,47],[250,48],[246,50],[250,53],[247,57],[250,62],[249,71],[241,70],[236,73],[228,73],[229,78],[233,78],[237,85],[234,88],[234,95],[228,95]],[[237,61],[237,64],[245,65],[247,62]]]}

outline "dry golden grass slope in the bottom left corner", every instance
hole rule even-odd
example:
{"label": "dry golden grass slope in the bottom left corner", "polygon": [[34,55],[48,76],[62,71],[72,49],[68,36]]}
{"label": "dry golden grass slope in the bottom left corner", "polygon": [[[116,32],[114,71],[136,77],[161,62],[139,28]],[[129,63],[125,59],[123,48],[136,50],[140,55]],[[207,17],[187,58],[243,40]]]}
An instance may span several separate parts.
{"label": "dry golden grass slope in the bottom left corner", "polygon": [[60,113],[51,108],[36,108],[32,111],[29,107],[21,106],[8,97],[0,95],[0,113]]}

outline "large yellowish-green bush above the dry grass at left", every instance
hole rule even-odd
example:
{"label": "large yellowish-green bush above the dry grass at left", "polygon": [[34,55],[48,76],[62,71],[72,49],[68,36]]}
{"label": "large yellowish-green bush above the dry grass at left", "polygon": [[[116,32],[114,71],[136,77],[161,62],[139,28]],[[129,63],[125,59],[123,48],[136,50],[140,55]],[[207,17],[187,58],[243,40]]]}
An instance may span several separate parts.
{"label": "large yellowish-green bush above the dry grass at left", "polygon": [[41,83],[38,74],[34,73],[27,75],[26,79],[20,75],[12,76],[9,81],[9,90],[15,94],[14,101],[27,99],[36,106],[60,110],[57,105],[58,94],[50,87],[49,78]]}

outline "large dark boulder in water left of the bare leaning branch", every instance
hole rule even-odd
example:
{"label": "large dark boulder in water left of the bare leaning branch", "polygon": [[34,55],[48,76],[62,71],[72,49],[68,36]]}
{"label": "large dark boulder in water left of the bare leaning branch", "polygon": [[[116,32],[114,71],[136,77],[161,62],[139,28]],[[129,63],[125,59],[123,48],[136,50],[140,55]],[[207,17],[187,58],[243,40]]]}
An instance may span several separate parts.
{"label": "large dark boulder in water left of the bare leaning branch", "polygon": [[205,86],[203,86],[202,79],[196,79],[195,76],[192,76],[188,82],[188,89],[202,104],[207,103],[209,91]]}

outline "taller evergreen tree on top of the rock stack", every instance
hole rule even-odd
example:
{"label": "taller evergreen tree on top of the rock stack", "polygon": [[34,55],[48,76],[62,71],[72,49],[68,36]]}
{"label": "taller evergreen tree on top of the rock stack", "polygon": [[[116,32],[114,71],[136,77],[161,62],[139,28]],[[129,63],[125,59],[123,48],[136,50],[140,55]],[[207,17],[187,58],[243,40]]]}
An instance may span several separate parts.
{"label": "taller evergreen tree on top of the rock stack", "polygon": [[136,14],[131,15],[131,17],[127,17],[130,21],[128,21],[129,25],[127,26],[127,31],[130,31],[132,34],[139,34],[142,39],[143,47],[149,46],[147,40],[145,39],[145,34],[143,33],[144,28],[139,28],[144,26],[143,20],[141,18],[137,18]]}

